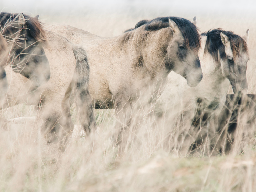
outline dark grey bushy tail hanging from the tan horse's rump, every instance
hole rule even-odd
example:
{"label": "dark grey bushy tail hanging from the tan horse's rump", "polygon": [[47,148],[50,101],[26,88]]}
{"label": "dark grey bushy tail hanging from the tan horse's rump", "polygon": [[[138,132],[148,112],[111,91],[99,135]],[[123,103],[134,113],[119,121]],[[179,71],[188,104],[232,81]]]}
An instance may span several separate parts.
{"label": "dark grey bushy tail hanging from the tan horse's rump", "polygon": [[76,58],[74,74],[75,100],[80,123],[88,135],[91,130],[96,130],[95,116],[92,108],[91,97],[88,91],[90,67],[86,51],[82,47],[75,45],[73,45],[72,49]]}

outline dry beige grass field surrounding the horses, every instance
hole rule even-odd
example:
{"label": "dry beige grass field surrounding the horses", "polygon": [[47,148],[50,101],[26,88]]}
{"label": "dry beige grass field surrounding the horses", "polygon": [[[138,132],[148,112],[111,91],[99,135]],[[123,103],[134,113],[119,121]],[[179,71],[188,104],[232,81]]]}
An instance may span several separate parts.
{"label": "dry beige grass field surrounding the horses", "polygon": [[[104,37],[119,35],[142,19],[158,16],[189,20],[197,16],[201,32],[220,27],[242,36],[249,29],[248,93],[256,94],[256,15],[252,11],[229,14],[175,10],[173,7],[170,10],[123,7],[109,12],[85,8],[77,13],[58,14],[39,9],[36,14],[40,14],[39,20],[45,26],[67,24]],[[255,122],[246,129],[240,125],[240,134],[246,138],[239,137],[236,142],[241,145],[234,145],[235,150],[229,155],[205,155],[203,151],[186,154],[177,150],[177,137],[172,136],[180,131],[173,125],[172,114],[159,120],[152,113],[154,106],[153,103],[142,107],[140,101],[137,102],[128,144],[122,152],[113,136],[118,123],[114,110],[95,109],[97,133],[89,137],[78,135],[64,150],[59,150],[57,144],[48,145],[41,136],[40,124],[33,119],[37,107],[22,103],[1,110],[0,116],[8,122],[0,125],[0,191],[256,190]],[[71,112],[72,119],[79,124],[75,106],[71,107]],[[32,118],[14,119],[18,117]],[[247,134],[248,130],[252,134]]]}

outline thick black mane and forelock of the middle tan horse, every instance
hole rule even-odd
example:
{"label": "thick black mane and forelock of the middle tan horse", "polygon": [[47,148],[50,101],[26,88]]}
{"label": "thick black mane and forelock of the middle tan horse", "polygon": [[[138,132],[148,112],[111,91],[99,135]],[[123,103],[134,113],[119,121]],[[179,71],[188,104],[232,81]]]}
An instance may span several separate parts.
{"label": "thick black mane and forelock of the middle tan horse", "polygon": [[198,28],[189,20],[181,17],[158,17],[153,20],[141,20],[135,25],[135,28],[128,29],[125,32],[132,31],[140,26],[144,26],[146,31],[160,30],[170,26],[169,18],[177,24],[185,39],[185,46],[190,50],[198,52],[201,47],[201,37],[198,33]]}

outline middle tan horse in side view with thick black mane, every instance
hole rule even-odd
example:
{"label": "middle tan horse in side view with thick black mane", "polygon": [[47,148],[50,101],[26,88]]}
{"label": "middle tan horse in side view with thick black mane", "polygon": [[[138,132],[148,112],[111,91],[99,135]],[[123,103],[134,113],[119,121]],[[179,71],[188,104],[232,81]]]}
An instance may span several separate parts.
{"label": "middle tan horse in side view with thick black mane", "polygon": [[48,29],[87,51],[94,108],[115,109],[122,126],[129,125],[132,104],[138,98],[147,103],[152,100],[170,71],[183,76],[189,86],[196,86],[202,79],[200,35],[197,27],[184,18],[143,20],[110,38],[68,25]]}

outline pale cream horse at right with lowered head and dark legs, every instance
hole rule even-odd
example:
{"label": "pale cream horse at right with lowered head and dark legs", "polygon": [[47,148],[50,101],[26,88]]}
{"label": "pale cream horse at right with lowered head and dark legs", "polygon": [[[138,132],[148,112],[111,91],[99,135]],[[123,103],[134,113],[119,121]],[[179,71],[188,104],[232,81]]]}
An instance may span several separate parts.
{"label": "pale cream horse at right with lowered head and dark legs", "polygon": [[[199,58],[204,76],[202,81],[197,87],[189,87],[182,78],[170,73],[167,86],[159,99],[159,105],[169,107],[166,111],[172,110],[180,116],[180,123],[184,126],[181,125],[176,137],[182,137],[184,143],[179,148],[186,152],[202,146],[202,143],[208,147],[206,152],[214,149],[216,143],[212,142],[216,136],[216,122],[230,84],[237,95],[245,93],[248,88],[248,30],[241,37],[218,28],[202,33],[201,39]],[[164,109],[160,106],[161,110]]]}

